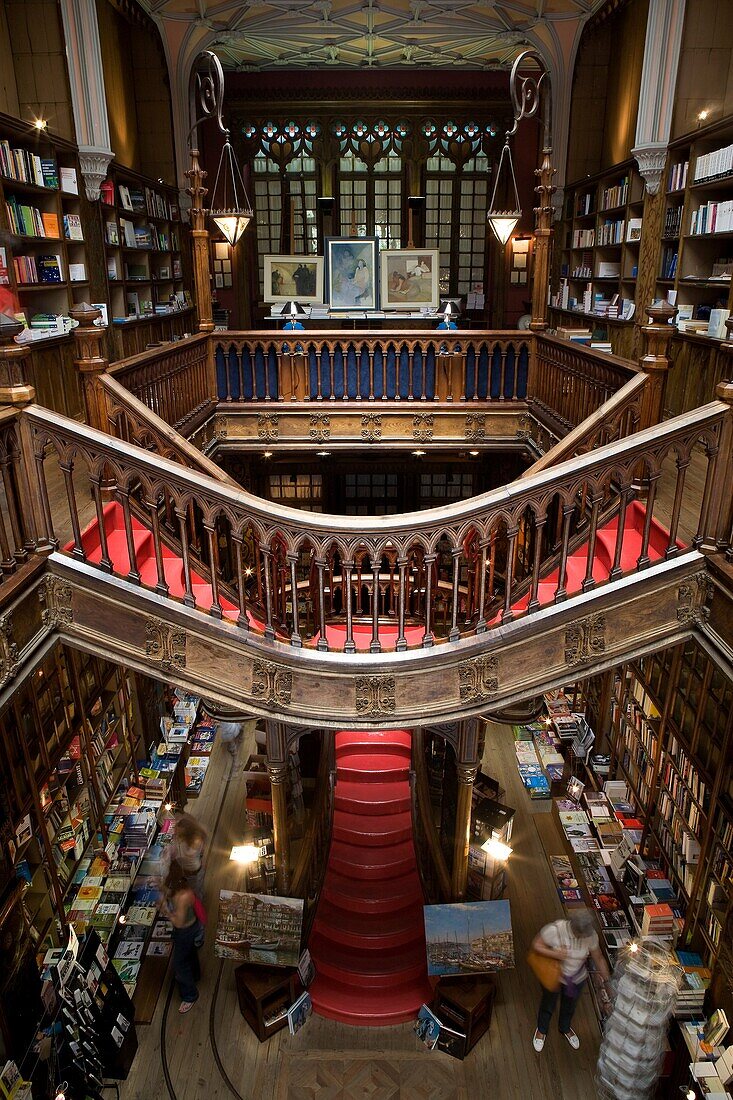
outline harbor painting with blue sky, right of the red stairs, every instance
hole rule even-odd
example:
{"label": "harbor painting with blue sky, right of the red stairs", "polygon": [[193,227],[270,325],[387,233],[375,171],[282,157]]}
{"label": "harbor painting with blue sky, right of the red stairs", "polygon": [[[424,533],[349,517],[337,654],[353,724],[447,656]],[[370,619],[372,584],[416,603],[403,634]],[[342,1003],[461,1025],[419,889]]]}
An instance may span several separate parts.
{"label": "harbor painting with blue sky, right of the red stairs", "polygon": [[507,901],[425,905],[428,975],[492,974],[514,967]]}

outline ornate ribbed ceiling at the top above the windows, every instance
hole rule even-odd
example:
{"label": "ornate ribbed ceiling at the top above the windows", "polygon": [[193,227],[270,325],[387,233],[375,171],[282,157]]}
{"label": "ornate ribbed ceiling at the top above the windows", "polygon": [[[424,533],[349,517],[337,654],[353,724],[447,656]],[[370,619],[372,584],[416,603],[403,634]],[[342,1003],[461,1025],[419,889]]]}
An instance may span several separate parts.
{"label": "ornate ribbed ceiling at the top above the windows", "polygon": [[[608,0],[138,0],[171,31],[200,30],[222,65],[501,68]],[[178,24],[176,26],[176,24]],[[185,24],[188,24],[187,26]]]}

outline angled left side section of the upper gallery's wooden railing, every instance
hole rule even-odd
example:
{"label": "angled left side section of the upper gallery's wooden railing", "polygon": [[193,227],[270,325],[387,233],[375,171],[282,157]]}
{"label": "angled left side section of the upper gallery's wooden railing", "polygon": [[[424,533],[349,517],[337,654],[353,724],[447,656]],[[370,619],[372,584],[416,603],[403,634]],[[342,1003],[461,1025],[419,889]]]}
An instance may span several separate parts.
{"label": "angled left side section of the upper gallery's wooden railing", "polygon": [[199,424],[216,402],[207,334],[120,360],[107,373],[182,432]]}

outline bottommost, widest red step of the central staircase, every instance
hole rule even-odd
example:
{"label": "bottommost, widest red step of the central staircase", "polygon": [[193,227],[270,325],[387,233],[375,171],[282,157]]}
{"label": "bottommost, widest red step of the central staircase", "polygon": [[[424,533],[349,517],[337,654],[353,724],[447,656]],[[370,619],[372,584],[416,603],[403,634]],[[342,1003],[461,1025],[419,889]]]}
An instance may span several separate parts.
{"label": "bottommost, widest red step of the central staircase", "polygon": [[384,1027],[413,1020],[420,1004],[433,998],[427,978],[406,982],[387,993],[383,989],[359,989],[355,985],[316,975],[308,992],[319,1015],[368,1027]]}

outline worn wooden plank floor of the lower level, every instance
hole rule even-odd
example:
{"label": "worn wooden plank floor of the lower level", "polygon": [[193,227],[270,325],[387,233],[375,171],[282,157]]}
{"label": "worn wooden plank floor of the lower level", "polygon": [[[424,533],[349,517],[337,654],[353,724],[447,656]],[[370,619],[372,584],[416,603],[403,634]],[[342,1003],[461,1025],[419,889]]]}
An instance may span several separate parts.
{"label": "worn wooden plank floor of the lower level", "polygon": [[[249,748],[243,746],[241,759]],[[166,1096],[176,1100],[591,1097],[600,1033],[588,994],[576,1015],[579,1052],[571,1050],[558,1034],[556,1021],[544,1052],[538,1055],[532,1047],[539,987],[524,959],[535,932],[561,915],[547,857],[564,849],[550,804],[529,802],[514,759],[511,729],[491,727],[484,767],[506,788],[507,804],[516,807],[508,890],[516,968],[499,976],[491,1028],[464,1062],[429,1053],[415,1038],[411,1024],[357,1028],[313,1016],[296,1036],[285,1030],[260,1044],[239,1014],[236,964],[215,957],[209,930],[196,1008],[185,1016],[178,1014],[178,994],[171,990],[168,976],[152,1024],[138,1028],[140,1049],[121,1086],[123,1100],[164,1100]],[[243,828],[243,782],[238,769],[231,776],[229,769],[228,752],[217,747],[204,792],[188,806],[214,832],[206,880],[212,920],[219,889],[237,886],[228,856]],[[169,1086],[163,1070],[162,1034]]]}

